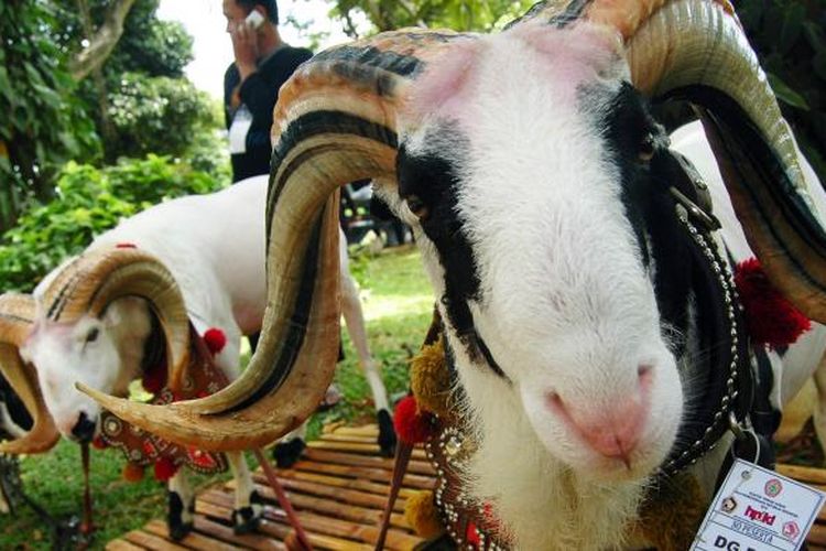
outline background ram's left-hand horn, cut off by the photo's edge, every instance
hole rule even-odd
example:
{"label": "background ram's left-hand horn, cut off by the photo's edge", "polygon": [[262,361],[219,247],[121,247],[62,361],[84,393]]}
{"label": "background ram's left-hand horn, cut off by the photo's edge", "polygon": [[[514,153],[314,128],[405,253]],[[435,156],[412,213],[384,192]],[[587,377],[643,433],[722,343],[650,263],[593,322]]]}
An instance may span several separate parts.
{"label": "background ram's left-hand horn, cut off by the photo's edge", "polygon": [[0,453],[41,453],[51,450],[59,433],[46,410],[34,368],[18,350],[34,325],[34,299],[26,294],[0,295],[0,375],[23,402],[32,426],[23,436],[0,442]]}

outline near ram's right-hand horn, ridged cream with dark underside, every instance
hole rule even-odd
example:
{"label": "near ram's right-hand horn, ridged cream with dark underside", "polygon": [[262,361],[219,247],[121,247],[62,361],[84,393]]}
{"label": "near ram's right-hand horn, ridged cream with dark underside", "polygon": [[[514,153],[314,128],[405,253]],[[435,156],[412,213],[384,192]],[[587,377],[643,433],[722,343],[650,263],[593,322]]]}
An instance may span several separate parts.
{"label": "near ram's right-hand horn, ridged cream with dark underside", "polygon": [[794,137],[733,9],[727,0],[618,6],[597,0],[583,17],[622,34],[638,88],[700,107],[749,245],[772,282],[826,322],[826,231]]}

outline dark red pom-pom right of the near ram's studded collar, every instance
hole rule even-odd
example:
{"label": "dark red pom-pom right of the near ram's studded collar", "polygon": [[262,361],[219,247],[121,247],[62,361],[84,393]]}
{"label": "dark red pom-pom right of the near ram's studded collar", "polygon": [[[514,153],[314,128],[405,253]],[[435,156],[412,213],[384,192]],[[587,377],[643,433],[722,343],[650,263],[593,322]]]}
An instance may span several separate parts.
{"label": "dark red pom-pom right of the near ram's studded collar", "polygon": [[750,258],[737,264],[735,284],[754,343],[786,346],[812,328],[812,322],[772,285],[760,260]]}

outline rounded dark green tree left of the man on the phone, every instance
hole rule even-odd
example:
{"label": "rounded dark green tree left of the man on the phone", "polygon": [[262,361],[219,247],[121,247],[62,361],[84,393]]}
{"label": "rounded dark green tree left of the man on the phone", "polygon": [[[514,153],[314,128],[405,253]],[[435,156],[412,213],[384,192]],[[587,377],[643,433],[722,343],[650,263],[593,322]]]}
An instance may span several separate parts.
{"label": "rounded dark green tree left of the man on the phone", "polygon": [[[56,34],[66,48],[77,52],[87,37],[77,0],[52,1],[62,15]],[[93,26],[99,26],[111,2],[86,3]],[[84,108],[105,138],[108,162],[150,152],[188,158],[187,144],[195,136],[221,128],[220,119],[211,116],[208,96],[184,78],[184,67],[193,60],[193,37],[181,23],[159,20],[159,0],[135,1],[100,78],[93,75],[80,86]],[[202,151],[204,147],[202,140]]]}

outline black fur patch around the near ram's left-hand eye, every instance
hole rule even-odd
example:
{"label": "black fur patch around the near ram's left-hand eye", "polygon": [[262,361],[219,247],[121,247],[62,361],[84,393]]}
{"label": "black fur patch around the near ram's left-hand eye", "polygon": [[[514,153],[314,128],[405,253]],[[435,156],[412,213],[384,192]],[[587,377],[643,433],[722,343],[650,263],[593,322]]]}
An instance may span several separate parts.
{"label": "black fur patch around the near ram's left-hand eye", "polygon": [[459,218],[457,166],[432,152],[411,154],[402,143],[396,171],[401,198],[416,197],[427,212],[420,224],[436,247],[444,268],[445,293],[441,301],[450,324],[474,361],[487,361],[494,372],[504,376],[476,333],[468,307],[469,301],[480,299],[480,281],[472,248]]}

